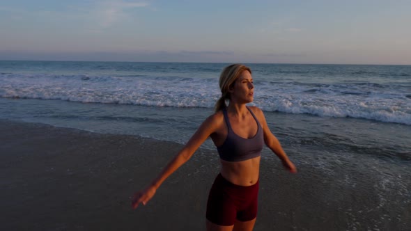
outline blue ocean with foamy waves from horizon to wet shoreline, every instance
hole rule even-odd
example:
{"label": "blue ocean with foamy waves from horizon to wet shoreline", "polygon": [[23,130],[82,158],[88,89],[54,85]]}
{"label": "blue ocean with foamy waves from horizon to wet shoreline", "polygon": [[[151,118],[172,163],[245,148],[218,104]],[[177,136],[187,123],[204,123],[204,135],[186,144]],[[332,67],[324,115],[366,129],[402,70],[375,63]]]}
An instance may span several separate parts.
{"label": "blue ocean with foamy waves from horizon to wet shoreline", "polygon": [[[185,143],[213,112],[226,65],[0,61],[0,119]],[[247,65],[250,105],[297,168],[327,177],[340,228],[411,227],[411,65]],[[375,200],[347,199],[359,192]]]}

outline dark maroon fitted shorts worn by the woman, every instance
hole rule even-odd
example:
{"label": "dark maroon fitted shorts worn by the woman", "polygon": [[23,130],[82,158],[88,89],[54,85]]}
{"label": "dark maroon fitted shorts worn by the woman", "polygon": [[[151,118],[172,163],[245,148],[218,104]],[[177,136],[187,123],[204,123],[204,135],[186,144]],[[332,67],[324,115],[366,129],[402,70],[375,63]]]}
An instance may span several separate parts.
{"label": "dark maroon fitted shorts worn by the woman", "polygon": [[221,173],[215,178],[207,202],[206,218],[217,225],[233,225],[235,220],[251,221],[257,216],[258,182],[240,186]]}

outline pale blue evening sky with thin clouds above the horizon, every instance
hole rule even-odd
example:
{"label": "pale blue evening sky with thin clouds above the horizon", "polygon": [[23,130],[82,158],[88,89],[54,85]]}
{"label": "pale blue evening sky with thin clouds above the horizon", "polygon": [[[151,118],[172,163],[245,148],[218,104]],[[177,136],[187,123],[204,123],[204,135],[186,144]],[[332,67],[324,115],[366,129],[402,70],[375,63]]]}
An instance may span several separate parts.
{"label": "pale blue evening sky with thin clouds above the horizon", "polygon": [[411,65],[411,0],[0,0],[0,60]]}

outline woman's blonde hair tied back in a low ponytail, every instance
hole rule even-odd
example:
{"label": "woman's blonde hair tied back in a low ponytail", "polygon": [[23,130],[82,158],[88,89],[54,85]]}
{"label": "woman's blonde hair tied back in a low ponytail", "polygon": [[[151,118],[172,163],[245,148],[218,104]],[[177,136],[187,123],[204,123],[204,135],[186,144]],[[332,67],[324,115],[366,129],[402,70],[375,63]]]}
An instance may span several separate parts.
{"label": "woman's blonde hair tied back in a low ponytail", "polygon": [[251,69],[242,64],[232,64],[224,68],[219,76],[219,88],[222,91],[222,96],[219,97],[215,104],[216,112],[226,107],[226,99],[231,99],[228,90],[234,86],[235,80],[245,70],[251,74]]}

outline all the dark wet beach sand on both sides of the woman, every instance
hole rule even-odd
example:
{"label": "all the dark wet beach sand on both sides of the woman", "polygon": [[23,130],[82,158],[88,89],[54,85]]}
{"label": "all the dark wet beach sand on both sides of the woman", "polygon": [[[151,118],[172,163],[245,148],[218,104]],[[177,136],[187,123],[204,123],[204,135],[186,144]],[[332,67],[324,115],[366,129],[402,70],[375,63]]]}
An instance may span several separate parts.
{"label": "all the dark wet beach sand on both sides of the woman", "polygon": [[[146,206],[133,210],[132,194],[181,145],[8,120],[0,120],[0,142],[1,230],[205,230],[208,191],[219,172],[215,151],[198,150]],[[381,223],[375,220],[381,211],[356,207],[378,203],[368,189],[353,192],[316,169],[297,168],[291,174],[279,161],[261,161],[254,230],[403,230],[409,224]]]}

